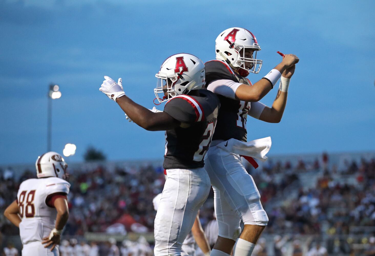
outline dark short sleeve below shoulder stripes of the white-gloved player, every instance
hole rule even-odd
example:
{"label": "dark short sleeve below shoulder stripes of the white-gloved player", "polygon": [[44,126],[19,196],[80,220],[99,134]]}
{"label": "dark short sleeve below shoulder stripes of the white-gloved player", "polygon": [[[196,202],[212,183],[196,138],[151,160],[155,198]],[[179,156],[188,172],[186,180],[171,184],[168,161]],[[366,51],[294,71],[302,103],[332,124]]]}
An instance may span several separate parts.
{"label": "dark short sleeve below shoulder stripes of the white-gloved player", "polygon": [[196,106],[189,101],[185,98],[174,97],[165,104],[164,112],[181,123],[195,123],[198,121],[199,112]]}

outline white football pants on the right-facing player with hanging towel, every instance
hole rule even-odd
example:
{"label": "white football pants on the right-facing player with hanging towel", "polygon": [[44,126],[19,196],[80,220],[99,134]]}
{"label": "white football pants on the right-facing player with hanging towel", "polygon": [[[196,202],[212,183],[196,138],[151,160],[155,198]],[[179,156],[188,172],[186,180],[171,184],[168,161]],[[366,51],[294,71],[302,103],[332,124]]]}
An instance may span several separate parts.
{"label": "white football pants on the right-facing player with hanging towel", "polygon": [[211,146],[204,158],[204,168],[214,191],[214,207],[219,236],[234,241],[245,224],[266,226],[268,217],[260,202],[260,193],[246,172],[241,156]]}

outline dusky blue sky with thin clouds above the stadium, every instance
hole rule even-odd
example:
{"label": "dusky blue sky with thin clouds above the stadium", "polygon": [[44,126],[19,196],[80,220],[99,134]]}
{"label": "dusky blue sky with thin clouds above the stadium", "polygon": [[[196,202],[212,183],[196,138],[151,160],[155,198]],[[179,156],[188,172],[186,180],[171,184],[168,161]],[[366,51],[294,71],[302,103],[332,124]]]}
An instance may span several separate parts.
{"label": "dusky blue sky with thin clouds above the stadium", "polygon": [[[123,78],[125,93],[152,108],[154,74],[169,55],[214,58],[229,27],[258,39],[261,72],[300,63],[279,124],[248,119],[248,138],[271,136],[270,154],[375,150],[375,1],[0,1],[0,164],[34,162],[46,150],[47,87],[53,102],[52,150],[89,145],[110,160],[163,156],[163,132],[125,120],[99,92],[103,76]],[[272,105],[277,91],[261,102]]]}

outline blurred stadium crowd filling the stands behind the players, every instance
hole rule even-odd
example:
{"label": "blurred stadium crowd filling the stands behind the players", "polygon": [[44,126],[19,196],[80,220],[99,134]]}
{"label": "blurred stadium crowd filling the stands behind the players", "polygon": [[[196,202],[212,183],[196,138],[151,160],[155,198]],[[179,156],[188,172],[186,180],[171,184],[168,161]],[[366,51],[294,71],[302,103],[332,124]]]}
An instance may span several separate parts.
{"label": "blurred stadium crowd filling the stands behind the players", "polygon": [[[248,171],[267,209],[269,223],[264,234],[274,236],[274,255],[305,255],[302,254],[299,235],[327,237],[324,241],[310,240],[310,251],[318,250],[320,246],[332,255],[359,255],[366,250],[371,252],[371,248],[374,250],[373,233],[360,232],[362,236],[358,236],[351,228],[375,226],[375,159],[345,161],[345,168],[338,171],[335,166],[330,167],[328,155],[323,154],[321,159],[311,163],[300,160],[293,166],[289,161],[273,164],[271,160],[259,169],[249,167]],[[16,199],[20,183],[34,178],[35,173],[26,170],[21,177],[16,178],[11,168],[0,171],[0,208],[3,212]],[[127,232],[153,232],[156,213],[152,199],[162,191],[165,182],[161,167],[123,167],[108,172],[102,165],[90,171],[69,169],[69,172],[70,216],[64,235],[83,237],[89,232],[121,235]],[[305,187],[299,179],[299,174],[306,172],[316,173],[318,178],[314,186]],[[343,182],[345,179],[342,177],[346,180],[350,177],[352,182]],[[280,200],[275,202],[274,198]],[[212,191],[200,216],[203,226],[214,218]],[[2,214],[0,228],[2,235],[18,234],[18,228],[11,225]],[[341,235],[344,235],[343,238]],[[353,237],[349,239],[350,235]],[[124,240],[123,243],[116,243],[115,240],[90,242],[89,246],[84,240],[65,240],[60,250],[62,255],[73,255],[65,252],[75,247],[75,250],[82,251],[81,255],[152,255],[143,237],[138,241]],[[291,248],[288,252],[285,244]],[[354,248],[353,244],[363,246]],[[3,243],[3,246],[6,244]],[[132,251],[132,248],[138,251]],[[264,239],[260,239],[253,255],[268,255]]]}

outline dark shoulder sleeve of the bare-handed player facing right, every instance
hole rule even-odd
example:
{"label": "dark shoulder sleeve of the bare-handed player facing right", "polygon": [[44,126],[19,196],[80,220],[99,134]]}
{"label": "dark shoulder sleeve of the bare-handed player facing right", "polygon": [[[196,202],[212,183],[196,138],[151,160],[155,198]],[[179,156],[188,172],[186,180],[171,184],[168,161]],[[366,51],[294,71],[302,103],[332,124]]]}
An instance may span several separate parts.
{"label": "dark shoulder sleeve of the bare-handed player facing right", "polygon": [[207,61],[204,66],[206,73],[206,88],[210,82],[217,79],[229,79],[238,82],[232,70],[230,70],[230,68],[222,61],[210,60]]}

